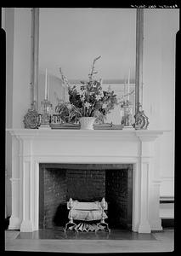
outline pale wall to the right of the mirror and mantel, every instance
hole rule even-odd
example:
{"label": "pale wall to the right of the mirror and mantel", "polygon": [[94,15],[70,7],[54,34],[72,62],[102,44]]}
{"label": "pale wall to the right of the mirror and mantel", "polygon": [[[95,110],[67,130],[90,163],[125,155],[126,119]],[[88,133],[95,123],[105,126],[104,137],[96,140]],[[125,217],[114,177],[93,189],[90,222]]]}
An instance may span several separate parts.
{"label": "pale wall to the right of the mirror and mantel", "polygon": [[174,195],[175,39],[178,9],[144,9],[144,112],[150,129],[170,130],[156,142],[161,196]]}

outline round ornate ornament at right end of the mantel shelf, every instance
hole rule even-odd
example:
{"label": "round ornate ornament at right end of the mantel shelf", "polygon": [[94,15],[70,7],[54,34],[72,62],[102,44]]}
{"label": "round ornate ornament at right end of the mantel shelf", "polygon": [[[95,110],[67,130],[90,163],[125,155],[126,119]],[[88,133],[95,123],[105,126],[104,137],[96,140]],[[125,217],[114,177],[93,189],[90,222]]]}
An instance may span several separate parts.
{"label": "round ornate ornament at right end of the mantel shelf", "polygon": [[142,108],[142,106],[139,103],[139,107],[138,107],[137,113],[134,115],[134,118],[135,118],[134,128],[136,130],[147,129],[147,127],[149,125],[149,119],[145,115],[144,110],[142,110],[141,108]]}

